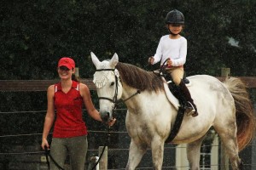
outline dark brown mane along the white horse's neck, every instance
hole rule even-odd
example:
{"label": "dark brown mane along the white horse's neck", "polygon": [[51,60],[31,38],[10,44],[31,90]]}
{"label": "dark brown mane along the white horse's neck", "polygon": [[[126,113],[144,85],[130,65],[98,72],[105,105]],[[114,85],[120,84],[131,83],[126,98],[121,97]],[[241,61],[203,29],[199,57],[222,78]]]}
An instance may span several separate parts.
{"label": "dark brown mane along the white horse's neck", "polygon": [[119,62],[116,65],[122,82],[125,82],[131,88],[137,88],[141,91],[159,91],[164,89],[161,78],[153,72],[126,63]]}

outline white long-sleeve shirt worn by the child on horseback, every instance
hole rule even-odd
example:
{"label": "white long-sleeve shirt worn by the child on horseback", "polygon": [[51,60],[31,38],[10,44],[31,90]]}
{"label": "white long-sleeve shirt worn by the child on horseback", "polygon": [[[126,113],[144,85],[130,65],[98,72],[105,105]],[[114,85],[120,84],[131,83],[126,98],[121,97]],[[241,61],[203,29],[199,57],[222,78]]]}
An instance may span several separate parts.
{"label": "white long-sleeve shirt worn by the child on horseback", "polygon": [[181,66],[186,62],[187,39],[179,37],[171,39],[169,35],[160,38],[160,42],[154,54],[154,64],[161,61],[162,65],[166,59],[172,60],[172,66]]}

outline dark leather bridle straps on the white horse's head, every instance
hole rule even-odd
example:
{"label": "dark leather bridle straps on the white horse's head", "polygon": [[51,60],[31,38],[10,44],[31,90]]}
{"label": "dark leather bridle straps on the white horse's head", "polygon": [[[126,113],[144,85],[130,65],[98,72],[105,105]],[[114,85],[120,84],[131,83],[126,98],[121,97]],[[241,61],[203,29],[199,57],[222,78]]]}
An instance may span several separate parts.
{"label": "dark leather bridle straps on the white horse's head", "polygon": [[[97,69],[96,71],[115,71],[116,69]],[[114,80],[115,80],[115,90],[114,90],[114,95],[113,95],[113,99],[110,99],[110,98],[107,98],[107,97],[98,97],[98,99],[107,99],[109,101],[111,101],[113,103],[113,108],[112,108],[112,115],[113,115],[113,118],[115,116],[115,109],[117,108],[117,106],[119,105],[119,100],[117,99],[117,96],[118,96],[118,92],[119,92],[119,77],[114,74]],[[137,94],[140,94],[141,91],[140,90],[137,90],[137,92],[135,94],[131,94],[130,97],[128,97],[127,99],[123,99],[122,101],[125,102],[127,101],[128,99],[131,99],[133,96],[137,95]]]}

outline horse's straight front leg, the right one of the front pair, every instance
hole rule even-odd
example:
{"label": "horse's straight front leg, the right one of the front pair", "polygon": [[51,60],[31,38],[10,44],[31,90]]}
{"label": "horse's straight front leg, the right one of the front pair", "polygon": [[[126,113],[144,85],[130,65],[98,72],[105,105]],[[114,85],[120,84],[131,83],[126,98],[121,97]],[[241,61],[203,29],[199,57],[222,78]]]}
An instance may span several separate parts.
{"label": "horse's straight front leg, the right one of the front pair", "polygon": [[154,164],[154,170],[161,170],[163,165],[164,156],[164,140],[160,136],[154,137],[151,142],[152,160]]}

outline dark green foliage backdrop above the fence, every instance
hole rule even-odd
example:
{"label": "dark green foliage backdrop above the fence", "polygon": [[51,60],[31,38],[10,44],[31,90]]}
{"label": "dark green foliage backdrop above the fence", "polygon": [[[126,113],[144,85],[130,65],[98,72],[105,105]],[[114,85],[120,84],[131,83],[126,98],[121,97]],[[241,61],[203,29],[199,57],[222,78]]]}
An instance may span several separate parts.
{"label": "dark green foliage backdrop above the fence", "polygon": [[62,56],[72,56],[81,77],[88,78],[95,70],[90,51],[100,59],[117,53],[120,61],[146,68],[173,8],[185,15],[188,75],[218,76],[223,66],[236,76],[255,75],[253,1],[6,0],[0,15],[0,79],[57,78]]}

